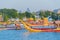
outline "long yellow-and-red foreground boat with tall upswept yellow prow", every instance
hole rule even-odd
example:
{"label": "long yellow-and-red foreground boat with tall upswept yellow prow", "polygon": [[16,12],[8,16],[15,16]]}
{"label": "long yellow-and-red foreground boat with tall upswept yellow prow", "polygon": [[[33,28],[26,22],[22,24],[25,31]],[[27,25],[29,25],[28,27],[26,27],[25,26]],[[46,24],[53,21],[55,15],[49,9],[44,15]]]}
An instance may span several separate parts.
{"label": "long yellow-and-red foreground boat with tall upswept yellow prow", "polygon": [[26,22],[24,22],[22,20],[20,20],[20,21],[21,21],[22,24],[24,24],[25,29],[27,29],[30,32],[60,32],[59,27],[54,28],[54,29],[52,29],[52,28],[50,28],[50,29],[49,28],[46,28],[46,29],[44,29],[44,28],[34,29],[34,28],[31,28],[28,23],[26,23]]}

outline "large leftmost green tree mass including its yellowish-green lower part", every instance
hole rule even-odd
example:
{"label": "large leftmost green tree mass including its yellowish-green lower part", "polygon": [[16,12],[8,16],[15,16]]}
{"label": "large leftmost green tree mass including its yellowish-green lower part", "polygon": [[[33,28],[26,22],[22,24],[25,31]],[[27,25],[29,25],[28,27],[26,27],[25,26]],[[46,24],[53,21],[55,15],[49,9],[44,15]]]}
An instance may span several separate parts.
{"label": "large leftmost green tree mass including its yellowish-green lower part", "polygon": [[18,13],[15,9],[0,9],[0,14],[3,15],[4,21],[7,21],[8,18],[17,18]]}

